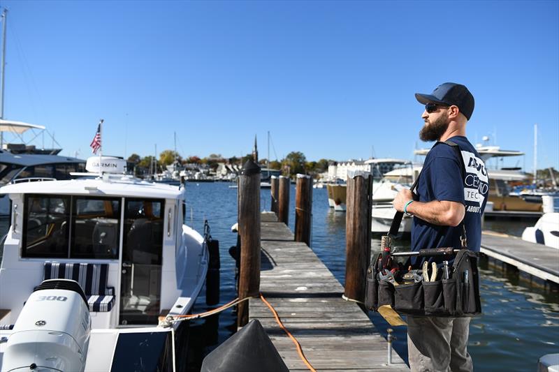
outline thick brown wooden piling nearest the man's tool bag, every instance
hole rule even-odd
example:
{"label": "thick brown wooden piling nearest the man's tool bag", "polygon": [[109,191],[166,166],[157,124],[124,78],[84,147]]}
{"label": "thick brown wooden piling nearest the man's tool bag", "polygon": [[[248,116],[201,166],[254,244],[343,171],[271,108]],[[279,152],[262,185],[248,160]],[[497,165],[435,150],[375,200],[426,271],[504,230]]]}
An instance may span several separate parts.
{"label": "thick brown wooden piling nearest the man's tool bag", "polygon": [[345,292],[350,299],[365,299],[365,275],[371,254],[372,176],[347,174]]}

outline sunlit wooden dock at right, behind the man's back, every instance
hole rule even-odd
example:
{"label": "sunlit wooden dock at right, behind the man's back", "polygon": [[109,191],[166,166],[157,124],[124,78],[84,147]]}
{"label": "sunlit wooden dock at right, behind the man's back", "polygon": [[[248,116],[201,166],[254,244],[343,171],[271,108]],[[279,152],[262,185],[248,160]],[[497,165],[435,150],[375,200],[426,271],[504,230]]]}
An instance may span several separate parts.
{"label": "sunlit wooden dock at right, behind the man's back", "polygon": [[559,284],[559,250],[499,232],[484,231],[481,252],[527,274]]}

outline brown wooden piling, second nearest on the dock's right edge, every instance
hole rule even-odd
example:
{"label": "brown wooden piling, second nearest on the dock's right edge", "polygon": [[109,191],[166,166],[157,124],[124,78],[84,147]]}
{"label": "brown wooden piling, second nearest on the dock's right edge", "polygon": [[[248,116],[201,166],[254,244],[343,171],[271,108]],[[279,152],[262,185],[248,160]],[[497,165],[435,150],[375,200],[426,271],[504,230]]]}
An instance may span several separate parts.
{"label": "brown wooden piling, second nearest on the dock's right edge", "polygon": [[295,241],[303,241],[310,246],[312,225],[312,178],[297,174],[295,190]]}

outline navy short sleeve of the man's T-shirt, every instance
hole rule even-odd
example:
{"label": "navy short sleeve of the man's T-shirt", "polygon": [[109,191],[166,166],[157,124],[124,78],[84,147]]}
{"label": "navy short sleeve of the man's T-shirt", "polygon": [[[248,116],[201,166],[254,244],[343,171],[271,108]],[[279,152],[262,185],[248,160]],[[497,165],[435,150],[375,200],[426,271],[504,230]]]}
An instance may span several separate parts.
{"label": "navy short sleeve of the man's T-shirt", "polygon": [[460,202],[464,200],[464,181],[461,165],[454,158],[437,157],[433,159],[431,167],[435,172],[433,189],[435,198],[439,201]]}

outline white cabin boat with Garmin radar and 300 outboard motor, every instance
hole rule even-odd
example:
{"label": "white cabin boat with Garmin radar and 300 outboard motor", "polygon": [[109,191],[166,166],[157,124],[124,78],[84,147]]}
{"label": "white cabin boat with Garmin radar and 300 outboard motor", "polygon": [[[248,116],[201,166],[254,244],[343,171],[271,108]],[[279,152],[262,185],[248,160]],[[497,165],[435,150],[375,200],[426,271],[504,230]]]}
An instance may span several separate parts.
{"label": "white cabin boat with Garmin radar and 300 outboard motor", "polygon": [[1,371],[174,371],[179,323],[161,319],[191,311],[208,270],[184,187],[102,174],[0,193]]}

